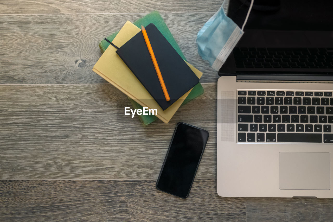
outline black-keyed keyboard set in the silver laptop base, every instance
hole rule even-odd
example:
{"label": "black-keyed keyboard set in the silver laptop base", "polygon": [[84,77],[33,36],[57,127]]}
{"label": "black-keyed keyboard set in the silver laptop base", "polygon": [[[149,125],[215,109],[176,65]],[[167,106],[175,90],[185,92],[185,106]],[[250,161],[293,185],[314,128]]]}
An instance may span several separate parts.
{"label": "black-keyed keyboard set in the silver laptop base", "polygon": [[333,91],[238,91],[238,142],[333,143]]}

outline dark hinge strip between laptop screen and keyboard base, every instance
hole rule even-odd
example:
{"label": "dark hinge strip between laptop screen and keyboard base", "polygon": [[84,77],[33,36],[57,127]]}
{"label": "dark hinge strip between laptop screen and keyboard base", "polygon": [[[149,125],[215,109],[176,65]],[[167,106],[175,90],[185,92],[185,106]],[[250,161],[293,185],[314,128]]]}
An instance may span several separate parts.
{"label": "dark hinge strip between laptop screen and keyboard base", "polygon": [[309,82],[309,81],[321,81],[321,82],[333,82],[333,75],[290,75],[290,74],[237,74],[237,81],[267,81],[267,82]]}

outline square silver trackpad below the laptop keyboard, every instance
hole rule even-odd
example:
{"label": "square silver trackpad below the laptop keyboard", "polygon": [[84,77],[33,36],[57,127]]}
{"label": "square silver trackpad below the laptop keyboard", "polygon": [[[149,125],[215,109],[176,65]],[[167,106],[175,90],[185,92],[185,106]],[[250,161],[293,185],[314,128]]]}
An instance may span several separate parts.
{"label": "square silver trackpad below the laptop keyboard", "polygon": [[329,190],[330,153],[280,152],[279,188]]}

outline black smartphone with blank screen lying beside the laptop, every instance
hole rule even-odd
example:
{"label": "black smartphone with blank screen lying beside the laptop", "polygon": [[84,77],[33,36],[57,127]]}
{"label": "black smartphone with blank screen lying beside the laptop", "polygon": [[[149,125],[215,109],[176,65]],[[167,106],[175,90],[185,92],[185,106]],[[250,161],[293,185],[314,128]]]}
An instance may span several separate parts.
{"label": "black smartphone with blank screen lying beside the laptop", "polygon": [[180,198],[188,197],[209,133],[179,122],[166,152],[156,188]]}

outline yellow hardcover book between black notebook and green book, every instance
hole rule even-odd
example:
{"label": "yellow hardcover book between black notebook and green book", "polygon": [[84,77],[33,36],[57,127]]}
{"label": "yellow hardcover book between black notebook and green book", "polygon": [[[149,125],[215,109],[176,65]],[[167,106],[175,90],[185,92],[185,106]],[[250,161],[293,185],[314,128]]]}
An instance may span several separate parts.
{"label": "yellow hardcover book between black notebook and green book", "polygon": [[[132,24],[130,21],[127,21],[112,43],[121,47],[140,31],[140,28]],[[168,123],[192,89],[163,111],[146,88],[118,56],[116,50],[115,47],[110,45],[93,67],[93,71],[143,107],[157,109],[156,116],[163,122]],[[202,73],[199,70],[189,63],[187,63],[187,65],[198,78],[201,77]]]}

